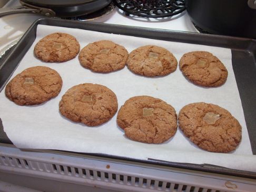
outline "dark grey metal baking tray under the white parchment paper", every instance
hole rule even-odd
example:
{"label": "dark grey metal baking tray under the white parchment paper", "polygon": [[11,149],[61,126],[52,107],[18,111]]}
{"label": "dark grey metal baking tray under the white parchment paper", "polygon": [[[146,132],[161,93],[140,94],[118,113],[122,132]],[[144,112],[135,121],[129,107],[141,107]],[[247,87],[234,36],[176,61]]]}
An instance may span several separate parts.
{"label": "dark grey metal baking tray under the white parchment paper", "polygon": [[[121,35],[129,35],[136,37],[144,37],[151,39],[159,39],[170,42],[181,42],[208,46],[218,46],[230,48],[232,51],[232,65],[237,81],[240,98],[242,101],[245,122],[247,124],[249,138],[253,155],[256,155],[256,40],[248,38],[238,38],[230,36],[198,34],[188,32],[177,32],[163,29],[131,27],[122,25],[111,25],[102,23],[69,21],[57,18],[41,18],[32,24],[28,31],[23,35],[21,40],[12,49],[12,51],[3,58],[0,63],[0,91],[3,90],[8,79],[13,74],[15,68],[26,54],[27,50],[36,38],[37,25],[50,25],[60,27],[70,27],[97,31],[103,33],[113,33]],[[0,143],[12,144],[3,131],[3,125],[0,119]],[[224,175],[232,175],[247,178],[256,178],[256,173],[249,171],[241,171],[237,169],[229,169],[209,164],[188,164],[175,163],[170,161],[162,161],[157,159],[138,160],[126,157],[112,156],[107,154],[81,154],[71,151],[44,150],[47,153],[68,154],[71,156],[92,155],[106,157],[110,159],[122,159],[128,161],[136,161],[146,164],[163,165],[168,167],[185,168],[191,170],[205,171],[208,173],[218,173]]]}

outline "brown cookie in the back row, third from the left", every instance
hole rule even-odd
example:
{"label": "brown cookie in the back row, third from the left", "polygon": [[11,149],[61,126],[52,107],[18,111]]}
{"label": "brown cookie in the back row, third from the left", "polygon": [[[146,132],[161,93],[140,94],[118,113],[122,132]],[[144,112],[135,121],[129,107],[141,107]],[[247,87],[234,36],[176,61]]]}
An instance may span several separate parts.
{"label": "brown cookie in the back row, third from the left", "polygon": [[127,67],[133,73],[148,77],[168,75],[176,70],[177,65],[169,50],[154,45],[136,48],[127,59]]}

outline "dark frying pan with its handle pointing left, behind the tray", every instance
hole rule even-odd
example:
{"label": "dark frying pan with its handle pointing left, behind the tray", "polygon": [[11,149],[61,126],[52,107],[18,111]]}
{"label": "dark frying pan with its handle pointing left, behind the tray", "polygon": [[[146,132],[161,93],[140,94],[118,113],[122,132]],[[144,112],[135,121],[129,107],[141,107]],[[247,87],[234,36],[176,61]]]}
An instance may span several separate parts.
{"label": "dark frying pan with its handle pointing left, behind the tray", "polygon": [[74,17],[93,13],[111,0],[20,0],[22,6],[1,8],[0,17],[16,13],[39,13],[51,17]]}

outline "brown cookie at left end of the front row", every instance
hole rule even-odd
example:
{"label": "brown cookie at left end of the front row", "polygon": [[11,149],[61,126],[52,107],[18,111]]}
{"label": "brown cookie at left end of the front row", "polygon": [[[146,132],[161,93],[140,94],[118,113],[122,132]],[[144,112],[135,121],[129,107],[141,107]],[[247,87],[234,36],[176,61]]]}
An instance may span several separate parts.
{"label": "brown cookie at left end of the front row", "polygon": [[36,66],[16,75],[7,84],[5,95],[18,105],[37,105],[56,97],[61,88],[62,78],[56,70]]}

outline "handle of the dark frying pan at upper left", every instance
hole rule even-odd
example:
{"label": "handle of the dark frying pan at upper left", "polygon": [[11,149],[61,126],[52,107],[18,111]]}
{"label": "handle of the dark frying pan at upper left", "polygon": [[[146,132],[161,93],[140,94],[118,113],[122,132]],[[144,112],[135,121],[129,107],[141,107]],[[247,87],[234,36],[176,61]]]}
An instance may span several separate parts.
{"label": "handle of the dark frying pan at upper left", "polygon": [[47,8],[33,8],[26,6],[0,8],[0,17],[16,13],[40,13],[45,16],[55,16],[55,13]]}

